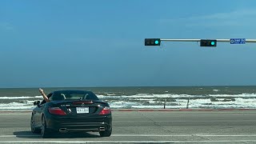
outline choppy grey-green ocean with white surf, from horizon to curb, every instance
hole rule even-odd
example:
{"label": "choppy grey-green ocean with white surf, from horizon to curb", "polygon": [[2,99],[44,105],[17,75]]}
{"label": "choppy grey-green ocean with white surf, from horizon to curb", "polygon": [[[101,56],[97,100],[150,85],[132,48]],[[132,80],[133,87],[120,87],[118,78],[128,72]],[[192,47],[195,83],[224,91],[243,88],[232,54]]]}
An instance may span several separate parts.
{"label": "choppy grey-green ocean with white surf, from horizon to curb", "polygon": [[[54,90],[90,90],[113,109],[254,109],[256,86],[134,86],[51,87]],[[38,88],[1,88],[0,110],[33,110],[42,100]]]}

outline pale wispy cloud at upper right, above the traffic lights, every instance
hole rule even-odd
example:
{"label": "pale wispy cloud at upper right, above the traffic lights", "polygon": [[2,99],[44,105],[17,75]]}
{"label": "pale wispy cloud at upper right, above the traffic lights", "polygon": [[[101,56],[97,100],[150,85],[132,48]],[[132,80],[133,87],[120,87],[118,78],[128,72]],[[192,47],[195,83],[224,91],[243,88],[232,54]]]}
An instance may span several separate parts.
{"label": "pale wispy cloud at upper right, above the traffic lights", "polygon": [[226,13],[199,15],[189,18],[159,19],[161,24],[185,26],[255,26],[256,10],[234,10]]}

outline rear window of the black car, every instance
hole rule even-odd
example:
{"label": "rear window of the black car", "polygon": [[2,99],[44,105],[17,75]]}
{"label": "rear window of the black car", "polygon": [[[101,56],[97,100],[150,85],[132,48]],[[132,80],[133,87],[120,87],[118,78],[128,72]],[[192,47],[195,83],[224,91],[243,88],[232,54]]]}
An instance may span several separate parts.
{"label": "rear window of the black car", "polygon": [[98,97],[91,91],[83,91],[83,90],[61,90],[55,91],[51,97],[53,101],[61,101],[61,100],[98,100]]}

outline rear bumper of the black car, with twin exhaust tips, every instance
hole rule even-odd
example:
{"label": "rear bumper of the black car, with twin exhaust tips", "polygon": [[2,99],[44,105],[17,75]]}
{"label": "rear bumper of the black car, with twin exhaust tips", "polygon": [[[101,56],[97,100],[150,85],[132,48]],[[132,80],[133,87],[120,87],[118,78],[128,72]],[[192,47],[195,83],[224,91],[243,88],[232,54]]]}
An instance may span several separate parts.
{"label": "rear bumper of the black car, with twin exhaust tips", "polygon": [[112,117],[96,116],[91,118],[68,118],[65,116],[50,116],[46,118],[47,128],[55,131],[100,131],[112,129]]}

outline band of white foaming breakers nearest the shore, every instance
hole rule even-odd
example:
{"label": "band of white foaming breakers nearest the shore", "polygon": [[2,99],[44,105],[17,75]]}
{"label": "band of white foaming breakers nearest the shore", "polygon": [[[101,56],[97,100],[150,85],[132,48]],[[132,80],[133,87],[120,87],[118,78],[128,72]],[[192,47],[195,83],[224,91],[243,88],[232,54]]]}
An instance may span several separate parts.
{"label": "band of white foaming breakers nearest the shore", "polygon": [[[135,95],[98,95],[109,102],[111,108],[256,108],[256,94],[135,94]],[[0,110],[32,110],[33,102],[42,96],[0,97]]]}

